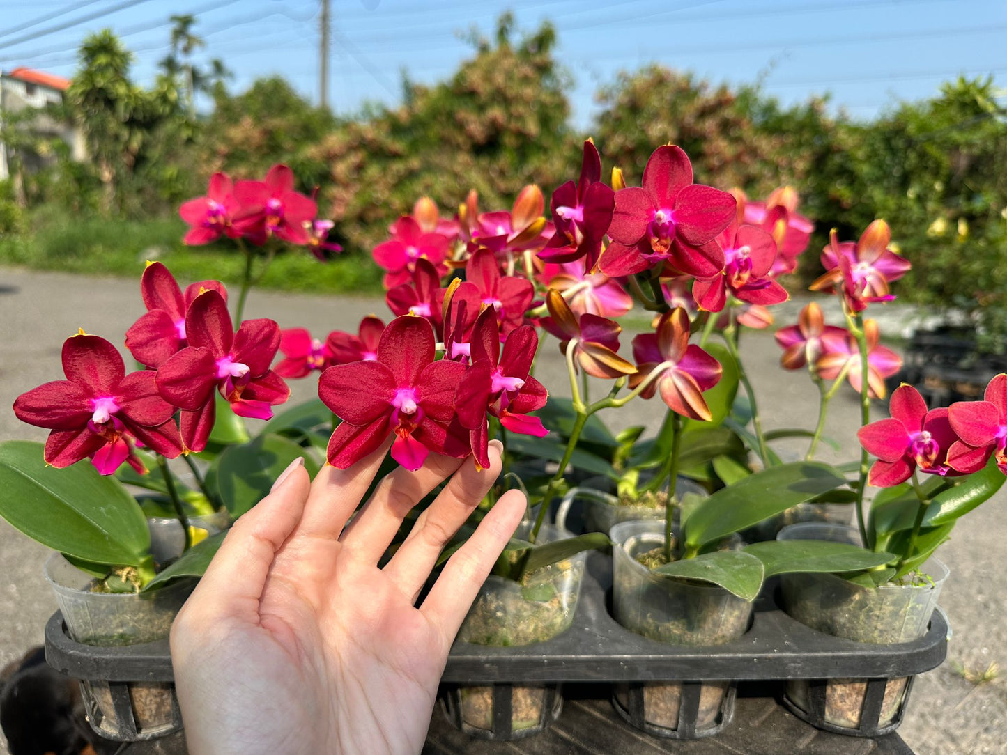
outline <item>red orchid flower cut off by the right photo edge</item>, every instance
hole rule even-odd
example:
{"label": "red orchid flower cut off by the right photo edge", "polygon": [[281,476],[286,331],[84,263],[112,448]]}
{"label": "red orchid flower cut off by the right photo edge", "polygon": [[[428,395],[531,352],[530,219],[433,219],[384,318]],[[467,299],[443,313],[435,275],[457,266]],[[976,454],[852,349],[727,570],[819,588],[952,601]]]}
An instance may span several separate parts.
{"label": "red orchid flower cut off by the right photo edge", "polygon": [[990,381],[983,399],[958,402],[948,410],[951,427],[960,438],[948,452],[948,465],[970,474],[993,456],[1007,474],[1007,374]]}

